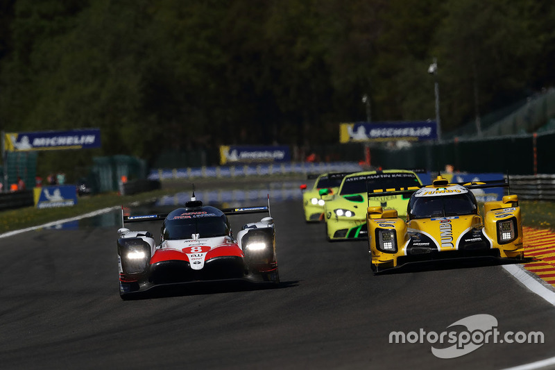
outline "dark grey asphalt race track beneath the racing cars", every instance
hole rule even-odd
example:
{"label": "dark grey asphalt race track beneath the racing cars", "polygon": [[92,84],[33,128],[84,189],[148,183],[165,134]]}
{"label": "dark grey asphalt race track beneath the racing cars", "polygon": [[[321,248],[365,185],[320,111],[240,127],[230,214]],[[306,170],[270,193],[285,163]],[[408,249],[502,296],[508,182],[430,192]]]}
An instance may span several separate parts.
{"label": "dark grey asphalt race track beneath the racing cars", "polygon": [[[133,301],[119,298],[117,215],[0,239],[0,367],[502,369],[555,356],[555,308],[500,266],[375,276],[366,242],[326,242],[298,201],[273,204],[272,216],[278,288],[187,285]],[[234,217],[235,232],[257,217]],[[501,333],[542,331],[545,343],[484,344],[452,359],[428,342],[389,343],[392,331],[441,333],[475,314],[493,315]]]}

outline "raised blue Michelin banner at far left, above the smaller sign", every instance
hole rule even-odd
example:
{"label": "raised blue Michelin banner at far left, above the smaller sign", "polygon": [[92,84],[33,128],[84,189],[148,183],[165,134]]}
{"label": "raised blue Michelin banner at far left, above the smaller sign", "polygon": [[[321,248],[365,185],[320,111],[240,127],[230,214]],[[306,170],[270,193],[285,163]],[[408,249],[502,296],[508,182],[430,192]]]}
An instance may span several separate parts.
{"label": "raised blue Michelin banner at far left, above the smaller sign", "polygon": [[6,133],[6,151],[100,148],[100,129]]}

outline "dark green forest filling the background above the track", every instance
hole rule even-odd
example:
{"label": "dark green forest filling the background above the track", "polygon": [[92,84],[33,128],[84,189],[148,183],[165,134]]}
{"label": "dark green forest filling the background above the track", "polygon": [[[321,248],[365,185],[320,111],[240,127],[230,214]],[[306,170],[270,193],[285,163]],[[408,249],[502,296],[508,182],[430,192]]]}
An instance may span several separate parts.
{"label": "dark green forest filling the background above the track", "polygon": [[[555,85],[552,0],[0,0],[0,129],[100,128],[152,163],[228,144],[336,143],[339,123],[442,131]],[[367,107],[361,99],[369,96]]]}

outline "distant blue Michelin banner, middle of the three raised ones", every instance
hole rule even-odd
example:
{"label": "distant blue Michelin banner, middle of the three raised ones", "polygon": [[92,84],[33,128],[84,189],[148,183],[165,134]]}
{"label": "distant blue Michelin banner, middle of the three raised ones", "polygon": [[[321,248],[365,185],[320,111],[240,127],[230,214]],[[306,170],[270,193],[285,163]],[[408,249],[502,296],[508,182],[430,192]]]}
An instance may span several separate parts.
{"label": "distant blue Michelin banner, middle of the three raised ones", "polygon": [[220,146],[221,165],[291,162],[289,146]]}

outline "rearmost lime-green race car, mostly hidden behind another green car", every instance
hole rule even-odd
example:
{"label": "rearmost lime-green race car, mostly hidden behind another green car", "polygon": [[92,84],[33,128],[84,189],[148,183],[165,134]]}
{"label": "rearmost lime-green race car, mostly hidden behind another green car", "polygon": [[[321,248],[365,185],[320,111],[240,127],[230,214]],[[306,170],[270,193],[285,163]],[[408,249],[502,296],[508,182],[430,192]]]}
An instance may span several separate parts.
{"label": "rearmost lime-green race car, mostly hidden behind another green car", "polygon": [[[318,222],[324,219],[325,199],[330,199],[339,190],[341,180],[352,172],[330,172],[316,176],[316,181],[310,190],[307,185],[300,185],[302,191],[302,208],[305,212],[305,221]],[[314,178],[309,175],[309,179]]]}

